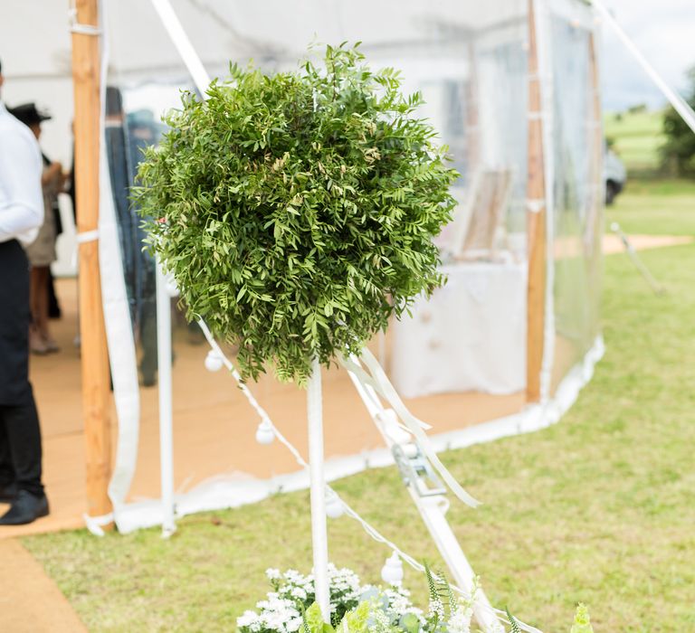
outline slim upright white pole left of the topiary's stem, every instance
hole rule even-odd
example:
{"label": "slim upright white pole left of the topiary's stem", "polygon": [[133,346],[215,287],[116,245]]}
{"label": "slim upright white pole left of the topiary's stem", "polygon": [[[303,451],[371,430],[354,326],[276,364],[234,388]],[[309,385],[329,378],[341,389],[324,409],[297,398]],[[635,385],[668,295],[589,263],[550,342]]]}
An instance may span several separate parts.
{"label": "slim upright white pole left of the topiary's stem", "polygon": [[174,430],[171,388],[171,299],[167,278],[157,262],[157,376],[159,388],[159,463],[162,488],[162,536],[176,532],[174,520]]}

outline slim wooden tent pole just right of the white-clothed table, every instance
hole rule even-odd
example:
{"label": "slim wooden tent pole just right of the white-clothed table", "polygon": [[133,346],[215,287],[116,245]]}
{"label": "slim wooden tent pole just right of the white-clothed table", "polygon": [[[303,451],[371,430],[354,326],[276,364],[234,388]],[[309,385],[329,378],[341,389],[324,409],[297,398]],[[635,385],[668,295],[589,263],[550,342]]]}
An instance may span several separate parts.
{"label": "slim wooden tent pole just right of the white-clothed table", "polygon": [[547,210],[542,111],[535,7],[534,0],[528,0],[527,402],[538,402],[541,397],[540,374],[546,321]]}

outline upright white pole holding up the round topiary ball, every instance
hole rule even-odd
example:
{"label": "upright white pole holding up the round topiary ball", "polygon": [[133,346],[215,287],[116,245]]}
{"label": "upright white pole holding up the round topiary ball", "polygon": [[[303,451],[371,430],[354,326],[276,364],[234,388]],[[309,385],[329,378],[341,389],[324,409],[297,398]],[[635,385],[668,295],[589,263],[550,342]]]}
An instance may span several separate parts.
{"label": "upright white pole holding up the round topiary ball", "polygon": [[316,601],[323,619],[330,620],[328,589],[328,533],[326,529],[326,475],[323,465],[323,411],[321,404],[321,367],[314,358],[307,388],[309,421],[309,477],[311,481],[311,541],[314,552]]}

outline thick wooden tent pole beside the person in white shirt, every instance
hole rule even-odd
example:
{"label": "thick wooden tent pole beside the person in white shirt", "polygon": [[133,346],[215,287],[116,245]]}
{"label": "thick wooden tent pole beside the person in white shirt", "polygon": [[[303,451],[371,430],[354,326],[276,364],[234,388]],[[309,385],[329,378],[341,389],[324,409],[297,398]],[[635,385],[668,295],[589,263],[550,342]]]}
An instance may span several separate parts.
{"label": "thick wooden tent pole beside the person in white shirt", "polygon": [[[76,22],[99,24],[98,0],[75,0]],[[82,418],[87,475],[87,512],[111,512],[109,429],[109,354],[101,307],[99,241],[88,239],[99,225],[100,49],[89,30],[72,33],[74,84],[75,185],[77,231],[85,241],[80,253],[80,335],[82,357]]]}

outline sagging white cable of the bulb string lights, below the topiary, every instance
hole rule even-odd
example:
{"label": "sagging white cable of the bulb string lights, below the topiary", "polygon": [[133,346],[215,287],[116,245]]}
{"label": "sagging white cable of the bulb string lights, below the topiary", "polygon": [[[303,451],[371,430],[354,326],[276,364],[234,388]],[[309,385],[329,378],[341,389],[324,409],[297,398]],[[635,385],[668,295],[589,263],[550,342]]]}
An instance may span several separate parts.
{"label": "sagging white cable of the bulb string lights, below the topiary", "polygon": [[[216,341],[214,340],[213,335],[211,334],[209,328],[205,325],[205,321],[203,319],[198,320],[198,325],[200,326],[201,330],[203,331],[203,334],[205,335],[205,338],[207,339],[207,342],[210,344],[210,346],[213,348],[214,352],[216,354],[220,355],[220,358],[222,358],[224,366],[229,370],[229,372],[232,374],[234,380],[239,384],[240,388],[242,389],[243,394],[246,396],[247,400],[252,404],[252,407],[255,411],[262,411],[262,415],[264,416],[263,419],[267,420],[267,423],[271,426],[271,429],[273,433],[275,434],[275,437],[280,441],[280,443],[290,451],[290,454],[292,457],[295,459],[297,464],[300,466],[300,468],[303,468],[304,470],[309,471],[309,463],[301,457],[300,451],[290,442],[289,439],[287,439],[284,435],[282,435],[281,431],[278,429],[277,426],[273,423],[271,418],[268,416],[268,414],[262,409],[261,405],[258,404],[258,402],[255,400],[255,398],[252,395],[252,392],[249,390],[249,388],[243,383],[243,380],[240,376],[240,374],[236,371],[234,368],[233,363],[227,358],[226,354],[222,351],[219,345],[217,345]],[[386,545],[390,550],[393,552],[397,553],[398,556],[405,562],[408,563],[416,572],[423,572],[424,573],[424,565],[422,565],[420,562],[417,562],[416,559],[414,559],[413,556],[411,556],[408,553],[405,553],[400,547],[398,547],[395,543],[392,541],[389,541],[386,536],[381,534],[376,527],[373,525],[369,524],[366,519],[362,518],[361,515],[357,513],[356,510],[354,510],[348,503],[338,495],[338,493],[330,486],[326,485],[325,490],[328,493],[328,495],[335,495],[338,498],[339,503],[343,506],[343,510],[346,515],[348,515],[350,518],[353,520],[357,521],[358,524],[362,526],[362,529],[374,540],[376,543],[381,543],[383,545]],[[460,587],[457,585],[452,584],[451,585],[452,590],[456,591],[459,595],[461,595],[465,600],[471,600],[471,594],[465,590],[462,590]],[[506,612],[501,610],[501,609],[496,609],[494,607],[489,607],[486,608],[486,610],[489,610],[490,613],[494,614],[497,619],[500,620],[500,622],[504,622],[505,624],[509,624],[509,619],[507,619]],[[516,619],[516,618],[515,618]],[[521,622],[519,619],[517,620],[517,624],[519,625],[519,628],[521,630],[526,631],[527,633],[542,633],[538,628],[532,627],[529,624],[525,624],[524,622]]]}

